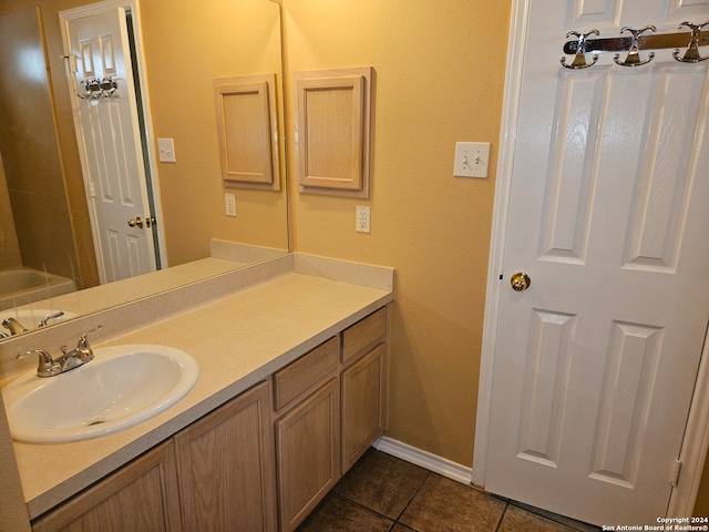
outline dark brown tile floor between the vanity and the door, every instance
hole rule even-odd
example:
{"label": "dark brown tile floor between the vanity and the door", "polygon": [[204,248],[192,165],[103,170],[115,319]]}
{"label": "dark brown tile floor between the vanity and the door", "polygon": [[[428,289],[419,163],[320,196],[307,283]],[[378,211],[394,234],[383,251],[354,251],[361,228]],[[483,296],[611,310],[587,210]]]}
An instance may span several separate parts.
{"label": "dark brown tile floor between the vanity and the door", "polygon": [[598,531],[369,449],[297,532]]}

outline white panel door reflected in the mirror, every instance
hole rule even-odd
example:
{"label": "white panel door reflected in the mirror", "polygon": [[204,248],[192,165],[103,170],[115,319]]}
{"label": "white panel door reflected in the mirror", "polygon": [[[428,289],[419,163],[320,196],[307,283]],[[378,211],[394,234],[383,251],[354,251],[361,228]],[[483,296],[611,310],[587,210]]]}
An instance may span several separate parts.
{"label": "white panel door reflected in the mirror", "polygon": [[[101,283],[153,272],[155,247],[125,10],[111,8],[71,20],[68,32],[75,64],[72,81],[84,94],[74,109]],[[85,94],[85,81],[107,79],[116,82],[112,94],[100,89]],[[137,218],[143,222],[129,225]]]}

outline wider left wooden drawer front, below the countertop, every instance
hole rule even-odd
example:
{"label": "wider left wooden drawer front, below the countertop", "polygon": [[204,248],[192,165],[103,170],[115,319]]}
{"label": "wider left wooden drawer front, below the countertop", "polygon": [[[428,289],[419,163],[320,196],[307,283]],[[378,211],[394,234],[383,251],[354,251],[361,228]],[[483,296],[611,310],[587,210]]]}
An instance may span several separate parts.
{"label": "wider left wooden drawer front, below the countertop", "polygon": [[274,375],[274,407],[288,406],[339,365],[340,339],[335,336]]}

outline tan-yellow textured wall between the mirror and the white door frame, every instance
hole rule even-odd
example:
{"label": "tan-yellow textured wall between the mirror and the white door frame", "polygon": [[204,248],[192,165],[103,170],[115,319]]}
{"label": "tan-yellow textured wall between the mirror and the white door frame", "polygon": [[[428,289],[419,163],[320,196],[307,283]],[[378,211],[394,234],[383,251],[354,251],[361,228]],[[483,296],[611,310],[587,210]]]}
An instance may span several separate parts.
{"label": "tan-yellow textured wall between the mirror and the white door frame", "polygon": [[[377,73],[371,197],[291,186],[294,247],[397,268],[388,436],[470,466],[511,2],[282,6],[289,76]],[[487,180],[453,177],[456,141],[492,142]],[[370,235],[354,232],[358,204],[371,205]]]}

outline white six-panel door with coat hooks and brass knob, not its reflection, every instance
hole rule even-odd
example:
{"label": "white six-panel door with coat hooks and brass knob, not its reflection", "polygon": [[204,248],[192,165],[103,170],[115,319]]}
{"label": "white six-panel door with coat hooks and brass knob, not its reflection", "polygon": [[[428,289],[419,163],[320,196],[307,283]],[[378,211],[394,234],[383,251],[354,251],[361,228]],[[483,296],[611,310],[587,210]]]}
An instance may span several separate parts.
{"label": "white six-panel door with coat hooks and brass knob, not its reflection", "polygon": [[595,524],[657,524],[709,318],[709,61],[559,58],[569,30],[685,31],[709,2],[528,4],[485,489]]}

